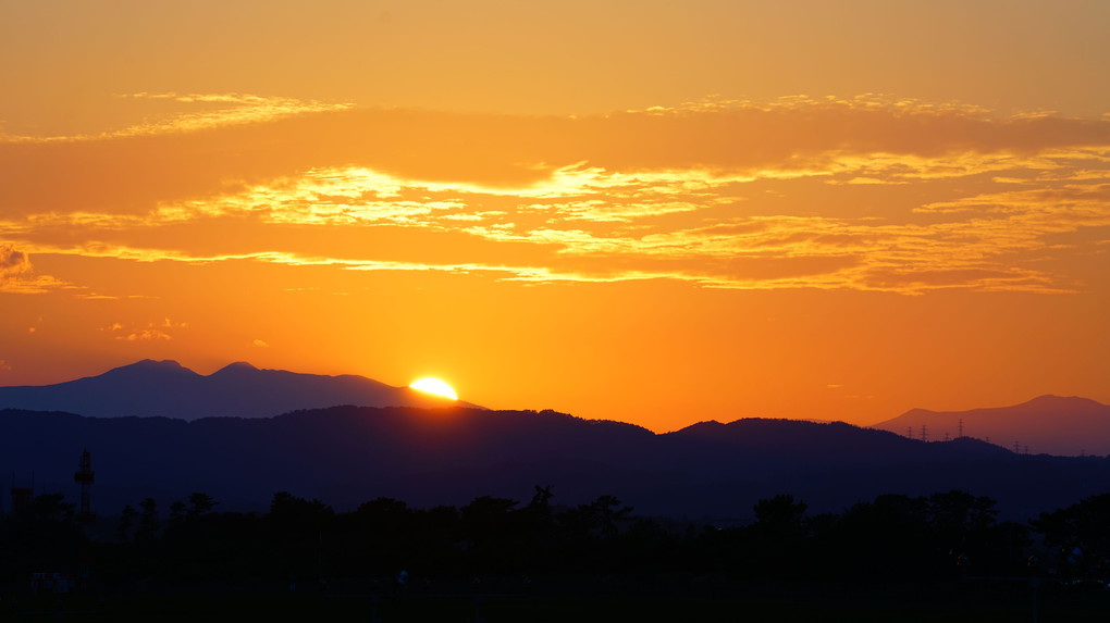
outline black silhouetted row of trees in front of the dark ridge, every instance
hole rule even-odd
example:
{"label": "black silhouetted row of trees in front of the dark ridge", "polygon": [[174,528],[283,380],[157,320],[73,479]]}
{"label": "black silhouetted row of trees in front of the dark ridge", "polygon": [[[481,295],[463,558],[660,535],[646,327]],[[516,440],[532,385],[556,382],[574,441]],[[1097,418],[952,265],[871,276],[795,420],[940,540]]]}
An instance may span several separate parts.
{"label": "black silhouetted row of trees in front of the dark ridge", "polygon": [[[198,492],[161,512],[127,505],[111,538],[91,540],[61,494],[0,521],[0,583],[36,571],[97,582],[413,583],[483,576],[622,576],[781,582],[944,582],[972,576],[1110,580],[1110,494],[1028,522],[998,521],[996,502],[965,491],[880,496],[841,513],[808,514],[791,496],[759,500],[744,525],[639,517],[614,496],[558,505],[551,487],[527,502],[484,496],[456,508],[379,498],[349,512],[287,492],[266,512],[221,512]],[[81,552],[79,554],[79,552]]]}

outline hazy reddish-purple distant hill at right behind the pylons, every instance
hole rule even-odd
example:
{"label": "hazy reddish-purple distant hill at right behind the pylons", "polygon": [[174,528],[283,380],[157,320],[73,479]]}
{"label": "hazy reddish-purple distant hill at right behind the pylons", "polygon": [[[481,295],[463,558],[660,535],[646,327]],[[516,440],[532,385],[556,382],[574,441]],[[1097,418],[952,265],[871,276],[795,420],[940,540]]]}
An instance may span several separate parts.
{"label": "hazy reddish-purple distant hill at right behind the pylons", "polygon": [[918,437],[925,425],[930,439],[942,439],[946,433],[957,437],[960,420],[965,436],[1011,449],[1017,443],[1021,451],[1028,446],[1035,455],[1110,455],[1110,406],[1087,398],[1041,396],[1012,407],[968,411],[912,409],[871,428],[900,435],[912,429]]}

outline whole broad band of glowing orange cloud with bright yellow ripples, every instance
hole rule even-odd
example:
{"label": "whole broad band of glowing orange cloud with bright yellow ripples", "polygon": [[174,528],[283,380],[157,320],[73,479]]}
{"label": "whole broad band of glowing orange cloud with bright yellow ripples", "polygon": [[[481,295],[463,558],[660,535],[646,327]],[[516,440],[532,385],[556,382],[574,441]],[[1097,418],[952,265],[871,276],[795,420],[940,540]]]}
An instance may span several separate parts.
{"label": "whole broad band of glowing orange cloud with bright yellow ripples", "polygon": [[129,99],[213,109],[0,141],[0,228],[24,259],[1049,294],[1084,287],[1077,257],[1110,225],[1110,119],[870,96],[581,119]]}

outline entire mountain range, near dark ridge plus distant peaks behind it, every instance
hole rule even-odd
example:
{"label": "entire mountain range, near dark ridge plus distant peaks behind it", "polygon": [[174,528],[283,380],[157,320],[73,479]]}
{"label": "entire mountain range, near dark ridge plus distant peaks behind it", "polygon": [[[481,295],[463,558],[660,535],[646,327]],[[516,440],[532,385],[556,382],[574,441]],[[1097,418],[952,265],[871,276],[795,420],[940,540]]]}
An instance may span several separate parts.
{"label": "entire mountain range, near dark ridge plus distant peaks behind it", "polygon": [[[549,484],[561,503],[615,494],[639,513],[720,521],[743,521],[757,500],[779,493],[839,512],[884,493],[962,489],[1020,519],[1110,490],[1110,457],[1050,456],[1040,452],[1078,452],[1053,438],[1033,441],[1045,427],[1084,426],[1087,452],[1099,452],[1107,409],[1041,397],[960,413],[915,409],[876,428],[749,418],[654,433],[555,411],[488,410],[363,377],[249,364],[202,376],[144,360],[0,388],[0,474],[75,499],[73,470],[89,449],[94,507],[104,513],[195,491],[223,509],[262,510],[278,491],[352,508],[379,497],[415,505],[521,500]],[[965,435],[939,441],[959,419]],[[921,423],[934,442],[905,435]],[[976,438],[1005,441],[993,426],[1021,431],[1038,452]]]}

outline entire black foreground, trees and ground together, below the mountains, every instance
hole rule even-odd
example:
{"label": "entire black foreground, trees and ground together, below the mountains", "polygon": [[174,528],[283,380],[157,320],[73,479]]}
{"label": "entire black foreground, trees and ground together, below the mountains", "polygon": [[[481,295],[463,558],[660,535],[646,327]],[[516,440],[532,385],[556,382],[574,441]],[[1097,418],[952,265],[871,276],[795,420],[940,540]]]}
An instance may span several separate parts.
{"label": "entire black foreground, trees and ground together, below the mountains", "polygon": [[[281,492],[266,514],[204,493],[79,525],[60,494],[0,520],[0,621],[1106,621],[1110,494],[1028,524],[963,491],[744,525],[482,497],[350,512]],[[112,529],[114,524],[114,530]],[[98,533],[108,528],[108,533]],[[99,537],[98,537],[99,534]],[[98,537],[98,538],[93,538]],[[326,581],[322,582],[323,578]],[[375,580],[376,579],[376,580]],[[54,591],[65,594],[44,594]]]}

